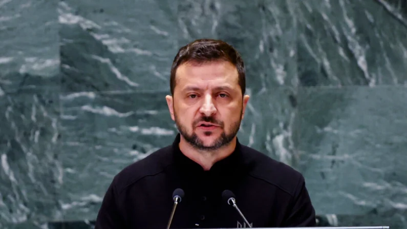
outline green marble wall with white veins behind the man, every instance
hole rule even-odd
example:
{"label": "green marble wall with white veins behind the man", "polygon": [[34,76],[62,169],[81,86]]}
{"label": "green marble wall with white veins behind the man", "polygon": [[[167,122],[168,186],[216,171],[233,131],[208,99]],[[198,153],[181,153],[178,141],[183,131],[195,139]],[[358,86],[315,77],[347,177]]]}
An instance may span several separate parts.
{"label": "green marble wall with white veins behind the man", "polygon": [[405,0],[0,0],[0,228],[92,228],[172,143],[197,38],[243,55],[240,141],[302,172],[322,226],[407,228]]}

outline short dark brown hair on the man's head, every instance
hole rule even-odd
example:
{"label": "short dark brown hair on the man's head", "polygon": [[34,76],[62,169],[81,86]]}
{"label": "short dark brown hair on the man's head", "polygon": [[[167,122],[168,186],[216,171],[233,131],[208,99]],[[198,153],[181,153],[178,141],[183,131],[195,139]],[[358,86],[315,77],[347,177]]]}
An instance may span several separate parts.
{"label": "short dark brown hair on the man's head", "polygon": [[171,67],[171,76],[169,80],[171,94],[174,96],[174,89],[176,86],[175,76],[177,68],[181,64],[187,62],[204,64],[217,60],[229,61],[237,68],[239,85],[242,89],[242,95],[244,95],[246,91],[246,73],[242,56],[231,45],[223,40],[217,39],[197,39],[180,48]]}

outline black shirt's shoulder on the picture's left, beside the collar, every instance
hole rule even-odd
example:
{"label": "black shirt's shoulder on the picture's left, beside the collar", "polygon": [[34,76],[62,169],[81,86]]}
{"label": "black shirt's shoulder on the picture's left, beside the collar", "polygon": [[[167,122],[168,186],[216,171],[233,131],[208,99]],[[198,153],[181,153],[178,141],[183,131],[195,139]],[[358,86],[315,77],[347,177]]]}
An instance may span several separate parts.
{"label": "black shirt's shoulder on the picture's left, beside the collar", "polygon": [[172,146],[168,145],[127,165],[114,177],[116,189],[120,192],[144,177],[162,173],[172,163],[171,158]]}

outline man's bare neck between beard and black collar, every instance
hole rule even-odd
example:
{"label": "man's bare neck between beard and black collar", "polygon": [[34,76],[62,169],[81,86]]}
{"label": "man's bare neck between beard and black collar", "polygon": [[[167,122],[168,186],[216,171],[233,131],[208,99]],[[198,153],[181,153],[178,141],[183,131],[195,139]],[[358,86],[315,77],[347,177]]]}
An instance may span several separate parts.
{"label": "man's bare neck between beard and black collar", "polygon": [[192,161],[195,161],[196,163],[201,165],[205,171],[210,170],[213,164],[232,154],[235,147],[236,147],[236,137],[228,145],[225,145],[224,147],[216,151],[197,150],[196,148],[192,147],[192,145],[190,145],[188,142],[186,142],[182,136],[179,143],[179,148],[181,152]]}

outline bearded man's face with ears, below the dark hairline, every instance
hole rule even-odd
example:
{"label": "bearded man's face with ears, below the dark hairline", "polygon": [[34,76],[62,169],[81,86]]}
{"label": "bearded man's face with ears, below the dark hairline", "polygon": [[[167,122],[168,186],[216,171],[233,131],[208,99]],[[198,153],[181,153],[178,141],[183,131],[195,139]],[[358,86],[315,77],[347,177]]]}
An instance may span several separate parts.
{"label": "bearded man's face with ears, below the dark hairline", "polygon": [[216,150],[237,135],[248,95],[242,98],[237,69],[227,61],[177,69],[168,108],[182,137],[200,150]]}

